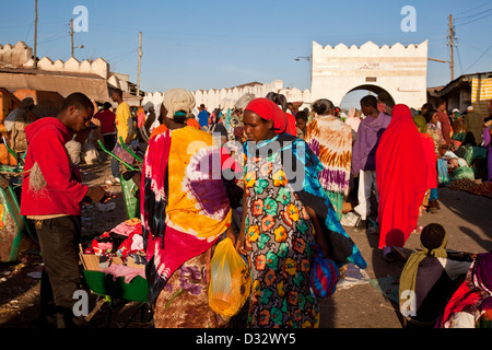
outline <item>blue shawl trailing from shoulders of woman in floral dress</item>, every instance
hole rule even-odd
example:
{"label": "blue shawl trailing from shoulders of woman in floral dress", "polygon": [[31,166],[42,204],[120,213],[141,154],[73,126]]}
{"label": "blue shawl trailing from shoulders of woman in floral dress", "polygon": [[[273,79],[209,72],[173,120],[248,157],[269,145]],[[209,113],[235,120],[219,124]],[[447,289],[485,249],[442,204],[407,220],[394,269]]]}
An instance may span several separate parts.
{"label": "blue shawl trailing from shoulders of woman in floral dress", "polygon": [[[328,242],[330,258],[339,267],[352,262],[360,268],[366,268],[367,262],[340,224],[333,206],[319,183],[318,175],[324,167],[306,142],[288,133],[281,133],[271,140],[259,142],[256,147],[255,143],[247,142],[245,144],[247,162],[250,161],[251,156],[259,156],[267,152],[265,149],[269,149],[268,152],[281,152],[280,159],[289,185],[304,206],[315,210]],[[285,166],[286,164],[288,166]],[[246,180],[248,176],[247,166],[246,163]],[[292,167],[292,170],[289,170],[289,167]],[[297,172],[297,170],[304,170],[304,172]]]}

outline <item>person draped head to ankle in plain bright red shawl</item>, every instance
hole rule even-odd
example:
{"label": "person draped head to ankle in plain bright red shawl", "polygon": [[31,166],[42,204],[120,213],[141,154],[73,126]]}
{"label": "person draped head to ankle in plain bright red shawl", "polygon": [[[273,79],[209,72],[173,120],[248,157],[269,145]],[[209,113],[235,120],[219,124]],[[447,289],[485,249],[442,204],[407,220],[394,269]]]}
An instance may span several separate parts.
{"label": "person draped head to ankle in plain bright red shawl", "polygon": [[[379,248],[393,261],[415,229],[427,189],[427,164],[410,108],[399,104],[376,152],[379,191]],[[398,249],[399,248],[399,249]]]}

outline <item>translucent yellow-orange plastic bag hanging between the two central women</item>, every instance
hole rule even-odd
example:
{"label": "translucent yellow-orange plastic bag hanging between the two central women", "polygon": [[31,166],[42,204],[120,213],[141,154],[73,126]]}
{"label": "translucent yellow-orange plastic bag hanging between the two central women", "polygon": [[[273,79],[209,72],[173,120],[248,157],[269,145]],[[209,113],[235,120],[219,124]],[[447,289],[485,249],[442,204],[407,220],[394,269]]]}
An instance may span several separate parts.
{"label": "translucent yellow-orange plastic bag hanging between the two central women", "polygon": [[236,315],[251,291],[251,276],[231,238],[226,237],[216,245],[210,261],[210,308],[222,316]]}

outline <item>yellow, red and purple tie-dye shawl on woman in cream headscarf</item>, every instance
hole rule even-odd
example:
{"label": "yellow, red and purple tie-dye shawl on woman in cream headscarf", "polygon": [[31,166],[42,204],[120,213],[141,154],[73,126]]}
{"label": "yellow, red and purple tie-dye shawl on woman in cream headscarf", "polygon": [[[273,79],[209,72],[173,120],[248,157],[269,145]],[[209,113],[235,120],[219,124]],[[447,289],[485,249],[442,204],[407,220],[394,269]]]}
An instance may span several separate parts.
{"label": "yellow, red and purple tie-dye shawl on woman in cream headscarf", "polygon": [[192,127],[149,141],[142,168],[141,222],[153,304],[173,272],[207,252],[231,223],[220,149]]}

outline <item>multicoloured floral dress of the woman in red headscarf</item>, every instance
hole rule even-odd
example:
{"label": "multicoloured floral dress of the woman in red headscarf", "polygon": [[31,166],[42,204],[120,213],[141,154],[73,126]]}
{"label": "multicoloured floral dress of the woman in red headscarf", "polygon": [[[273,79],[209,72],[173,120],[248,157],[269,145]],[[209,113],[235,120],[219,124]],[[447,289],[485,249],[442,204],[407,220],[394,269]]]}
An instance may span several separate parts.
{"label": "multicoloured floral dress of the woman in red headscarf", "polygon": [[278,158],[251,159],[245,177],[253,280],[248,326],[317,327],[318,304],[309,292],[313,228]]}

